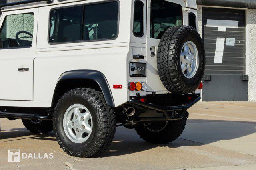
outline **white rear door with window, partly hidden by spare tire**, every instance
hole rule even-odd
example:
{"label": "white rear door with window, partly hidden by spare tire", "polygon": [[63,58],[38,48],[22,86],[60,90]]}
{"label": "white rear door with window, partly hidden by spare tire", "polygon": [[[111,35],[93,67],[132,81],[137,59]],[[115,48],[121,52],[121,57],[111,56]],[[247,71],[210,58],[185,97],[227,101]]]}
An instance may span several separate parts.
{"label": "white rear door with window, partly hidden by spare tire", "polygon": [[147,3],[147,46],[146,63],[147,91],[166,91],[157,70],[157,48],[166,29],[186,25],[184,0],[148,0]]}

